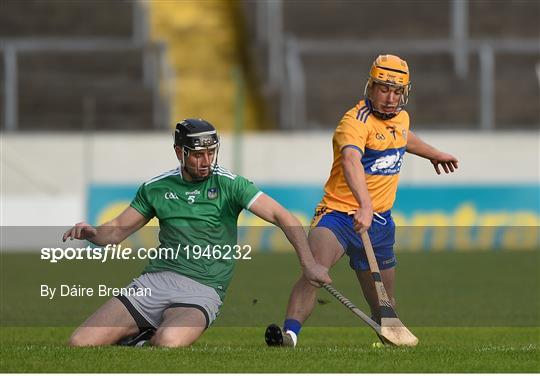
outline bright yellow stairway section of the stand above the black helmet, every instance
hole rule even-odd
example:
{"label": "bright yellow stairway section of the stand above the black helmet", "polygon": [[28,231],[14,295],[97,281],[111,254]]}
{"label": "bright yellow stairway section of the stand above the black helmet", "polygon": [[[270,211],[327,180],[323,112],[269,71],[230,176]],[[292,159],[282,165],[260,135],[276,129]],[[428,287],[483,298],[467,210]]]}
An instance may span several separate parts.
{"label": "bright yellow stairway section of the stand above the black helmet", "polygon": [[[174,71],[169,82],[175,93],[173,117],[204,117],[220,130],[232,130],[241,121],[239,107],[245,128],[267,127],[264,102],[245,52],[244,15],[238,2],[154,1],[148,5],[151,37],[167,43]],[[241,97],[240,85],[245,93]]]}

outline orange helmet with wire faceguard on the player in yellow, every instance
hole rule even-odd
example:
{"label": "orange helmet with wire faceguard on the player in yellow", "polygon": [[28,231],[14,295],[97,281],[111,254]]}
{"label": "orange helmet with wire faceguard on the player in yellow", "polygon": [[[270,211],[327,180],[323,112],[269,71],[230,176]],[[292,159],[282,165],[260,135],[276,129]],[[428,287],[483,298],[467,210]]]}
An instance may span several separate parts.
{"label": "orange helmet with wire faceguard on the player in yellow", "polygon": [[407,62],[395,55],[379,55],[373,62],[369,71],[368,81],[364,88],[364,97],[370,98],[370,91],[373,84],[390,86],[391,88],[403,89],[403,93],[399,99],[396,112],[384,113],[372,109],[372,113],[383,120],[391,119],[396,116],[405,107],[409,101],[409,92],[411,91],[411,81],[409,76],[409,67]]}

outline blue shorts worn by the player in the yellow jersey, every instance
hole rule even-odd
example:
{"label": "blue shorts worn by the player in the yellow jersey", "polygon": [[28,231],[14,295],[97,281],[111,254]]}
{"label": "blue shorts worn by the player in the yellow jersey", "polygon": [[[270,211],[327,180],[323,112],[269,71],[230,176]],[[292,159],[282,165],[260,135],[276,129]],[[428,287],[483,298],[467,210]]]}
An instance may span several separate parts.
{"label": "blue shorts worn by the player in the yellow jersey", "polygon": [[[396,240],[396,225],[390,210],[373,216],[373,222],[368,230],[371,245],[377,259],[379,269],[389,269],[396,266],[394,243]],[[347,213],[332,211],[323,214],[315,227],[330,229],[349,256],[349,265],[353,270],[369,270],[364,244],[360,235],[354,231],[353,216]]]}

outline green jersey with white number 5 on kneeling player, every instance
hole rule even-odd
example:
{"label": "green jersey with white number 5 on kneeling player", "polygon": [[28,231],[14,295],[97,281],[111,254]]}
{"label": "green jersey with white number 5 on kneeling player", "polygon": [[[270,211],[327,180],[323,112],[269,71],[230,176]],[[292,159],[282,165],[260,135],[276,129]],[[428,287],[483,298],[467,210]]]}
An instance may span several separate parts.
{"label": "green jersey with white number 5 on kneeling player", "polygon": [[159,220],[159,258],[144,273],[173,271],[216,290],[221,299],[238,251],[237,220],[261,192],[247,179],[216,167],[202,182],[182,178],[179,168],[144,183],[131,207]]}

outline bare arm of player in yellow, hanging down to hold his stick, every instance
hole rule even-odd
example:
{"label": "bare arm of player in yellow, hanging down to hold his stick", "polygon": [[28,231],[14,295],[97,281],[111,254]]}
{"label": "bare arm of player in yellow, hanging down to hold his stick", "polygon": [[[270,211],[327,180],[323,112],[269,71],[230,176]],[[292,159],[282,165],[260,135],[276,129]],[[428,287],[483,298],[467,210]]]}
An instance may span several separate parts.
{"label": "bare arm of player in yellow, hanging down to hold his stick", "polygon": [[354,148],[345,148],[341,151],[341,156],[345,181],[360,206],[354,214],[354,229],[363,232],[371,226],[373,206],[367,189],[364,167],[360,162],[362,155]]}

